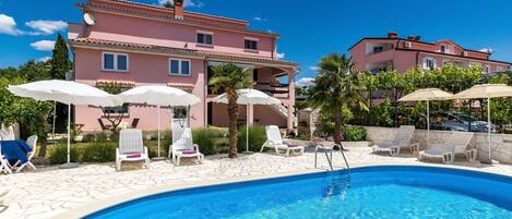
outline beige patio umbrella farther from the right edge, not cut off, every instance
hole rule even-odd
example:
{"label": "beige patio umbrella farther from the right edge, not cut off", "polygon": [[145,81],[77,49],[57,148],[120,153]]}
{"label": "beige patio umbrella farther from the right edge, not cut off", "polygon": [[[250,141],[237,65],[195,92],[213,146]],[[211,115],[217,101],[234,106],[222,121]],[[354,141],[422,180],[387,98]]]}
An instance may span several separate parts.
{"label": "beige patio umbrella farther from the right edge, not cut off", "polygon": [[427,147],[430,146],[430,106],[431,100],[445,100],[453,95],[443,92],[438,88],[424,88],[413,92],[404,97],[400,98],[398,101],[427,101]]}

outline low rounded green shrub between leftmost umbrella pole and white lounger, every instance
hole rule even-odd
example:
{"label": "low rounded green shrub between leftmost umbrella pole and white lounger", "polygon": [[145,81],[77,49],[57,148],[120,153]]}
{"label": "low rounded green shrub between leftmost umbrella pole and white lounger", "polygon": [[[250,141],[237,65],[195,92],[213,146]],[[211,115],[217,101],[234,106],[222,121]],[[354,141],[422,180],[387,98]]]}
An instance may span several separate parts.
{"label": "low rounded green shrub between leftmost umbrella pole and white lounger", "polygon": [[84,162],[108,162],[116,160],[115,143],[95,142],[82,149],[82,161]]}

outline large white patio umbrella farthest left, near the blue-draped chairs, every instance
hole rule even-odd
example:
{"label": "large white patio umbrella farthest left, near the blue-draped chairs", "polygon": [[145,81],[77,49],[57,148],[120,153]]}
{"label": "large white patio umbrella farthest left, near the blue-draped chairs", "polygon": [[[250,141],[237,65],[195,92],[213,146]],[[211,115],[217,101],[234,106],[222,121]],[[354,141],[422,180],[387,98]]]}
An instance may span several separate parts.
{"label": "large white patio umbrella farthest left, near the blue-draped chairs", "polygon": [[121,100],[96,87],[71,81],[39,81],[22,85],[9,85],[9,92],[20,97],[29,97],[36,100],[52,100],[68,105],[68,162],[61,168],[74,168],[76,163],[70,161],[71,146],[71,105],[94,105],[115,107]]}

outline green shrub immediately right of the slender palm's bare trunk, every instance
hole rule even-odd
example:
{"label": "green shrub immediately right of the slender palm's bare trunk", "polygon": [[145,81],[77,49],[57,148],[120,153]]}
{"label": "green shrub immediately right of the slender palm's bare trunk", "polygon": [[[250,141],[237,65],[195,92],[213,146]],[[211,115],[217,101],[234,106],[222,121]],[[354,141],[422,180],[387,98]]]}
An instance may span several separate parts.
{"label": "green shrub immediately right of the slender palm's bare trunk", "polygon": [[[246,151],[247,148],[247,127],[242,126],[238,130],[238,151]],[[265,127],[262,125],[249,126],[249,150],[259,151],[266,141]]]}

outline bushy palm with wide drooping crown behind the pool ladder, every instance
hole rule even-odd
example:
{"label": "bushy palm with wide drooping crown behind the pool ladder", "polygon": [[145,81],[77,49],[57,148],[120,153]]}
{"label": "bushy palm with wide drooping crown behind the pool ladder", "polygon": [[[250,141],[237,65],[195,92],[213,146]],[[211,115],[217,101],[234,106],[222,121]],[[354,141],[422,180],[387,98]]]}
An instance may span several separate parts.
{"label": "bushy palm with wide drooping crown behind the pool ladder", "polygon": [[341,145],[343,139],[343,107],[356,106],[368,110],[362,92],[365,86],[359,81],[360,72],[355,71],[352,58],[331,53],[318,64],[319,74],[311,87],[308,101],[313,108],[320,108],[334,117],[334,142]]}

